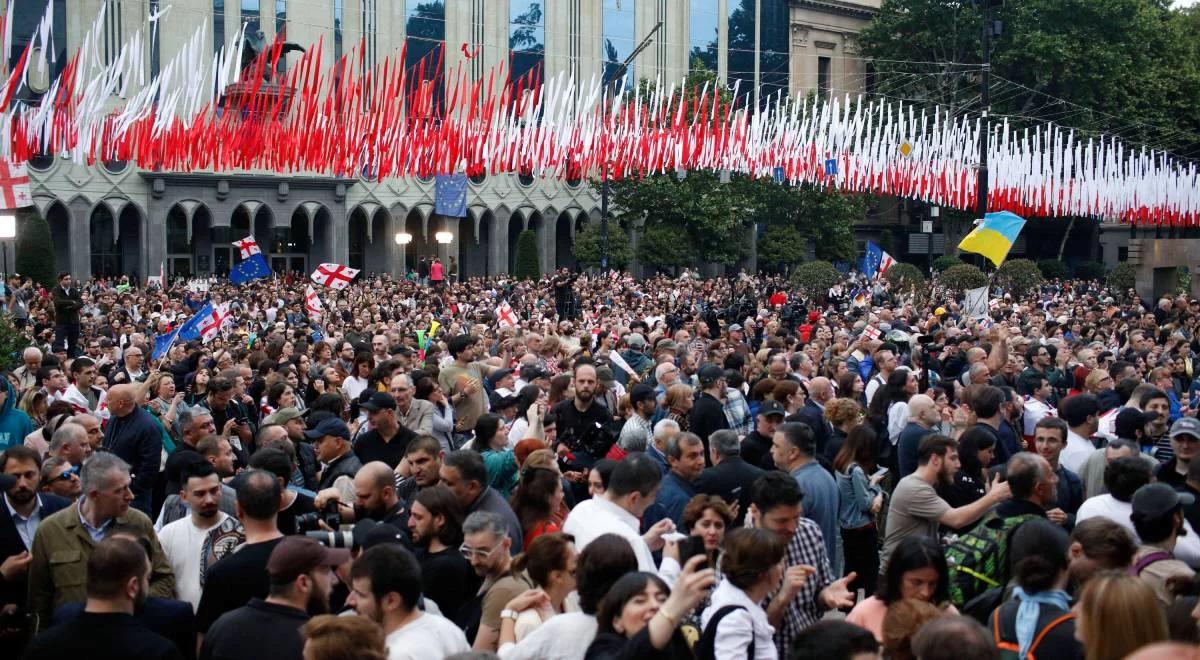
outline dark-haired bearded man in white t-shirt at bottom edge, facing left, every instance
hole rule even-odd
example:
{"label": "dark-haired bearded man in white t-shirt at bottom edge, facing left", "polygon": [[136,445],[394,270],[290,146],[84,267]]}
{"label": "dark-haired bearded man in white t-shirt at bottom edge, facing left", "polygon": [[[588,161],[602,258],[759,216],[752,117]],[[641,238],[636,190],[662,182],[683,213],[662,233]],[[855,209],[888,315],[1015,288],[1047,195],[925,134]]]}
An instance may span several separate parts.
{"label": "dark-haired bearded man in white t-shirt at bottom edge, facing left", "polygon": [[380,626],[388,636],[388,660],[425,660],[470,650],[457,625],[418,607],[421,566],[403,547],[374,546],[350,566],[346,605]]}

